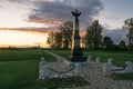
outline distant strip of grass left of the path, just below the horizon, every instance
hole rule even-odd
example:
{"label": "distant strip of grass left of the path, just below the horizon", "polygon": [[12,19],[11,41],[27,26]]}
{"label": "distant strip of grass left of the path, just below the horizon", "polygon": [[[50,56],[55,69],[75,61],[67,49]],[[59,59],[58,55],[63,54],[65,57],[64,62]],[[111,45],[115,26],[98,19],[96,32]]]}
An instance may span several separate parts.
{"label": "distant strip of grass left of the path, just below the horizon", "polygon": [[54,57],[43,52],[41,49],[0,49],[0,61],[40,60],[42,56],[48,61],[55,61]]}

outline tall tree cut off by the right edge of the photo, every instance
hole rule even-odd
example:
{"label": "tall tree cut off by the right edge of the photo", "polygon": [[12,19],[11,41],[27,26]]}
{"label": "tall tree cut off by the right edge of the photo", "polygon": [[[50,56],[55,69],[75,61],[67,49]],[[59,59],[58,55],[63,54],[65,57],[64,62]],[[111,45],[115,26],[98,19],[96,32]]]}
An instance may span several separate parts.
{"label": "tall tree cut off by the right edge of the photo", "polygon": [[129,47],[133,44],[133,18],[126,19],[124,21],[124,28],[129,30]]}

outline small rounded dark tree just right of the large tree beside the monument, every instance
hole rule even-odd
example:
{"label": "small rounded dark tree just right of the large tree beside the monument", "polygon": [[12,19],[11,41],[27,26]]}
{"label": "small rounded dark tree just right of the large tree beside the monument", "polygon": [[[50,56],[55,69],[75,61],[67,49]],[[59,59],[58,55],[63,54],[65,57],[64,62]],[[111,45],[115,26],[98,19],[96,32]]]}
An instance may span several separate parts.
{"label": "small rounded dark tree just right of the large tree beside the monument", "polygon": [[106,48],[106,49],[112,49],[113,48],[113,41],[110,37],[104,37],[103,38],[103,46]]}

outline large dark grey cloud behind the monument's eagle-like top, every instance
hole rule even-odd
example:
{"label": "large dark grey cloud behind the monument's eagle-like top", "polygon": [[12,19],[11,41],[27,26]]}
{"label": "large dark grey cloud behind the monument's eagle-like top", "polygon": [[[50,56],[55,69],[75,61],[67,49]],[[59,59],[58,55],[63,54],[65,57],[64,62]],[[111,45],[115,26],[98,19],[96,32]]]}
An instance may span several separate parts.
{"label": "large dark grey cloud behind the monument's eagle-like top", "polygon": [[82,24],[89,24],[103,9],[100,0],[34,0],[32,3],[34,8],[29,13],[28,21],[40,23],[58,24],[58,21],[72,20],[71,10],[79,9],[82,11]]}

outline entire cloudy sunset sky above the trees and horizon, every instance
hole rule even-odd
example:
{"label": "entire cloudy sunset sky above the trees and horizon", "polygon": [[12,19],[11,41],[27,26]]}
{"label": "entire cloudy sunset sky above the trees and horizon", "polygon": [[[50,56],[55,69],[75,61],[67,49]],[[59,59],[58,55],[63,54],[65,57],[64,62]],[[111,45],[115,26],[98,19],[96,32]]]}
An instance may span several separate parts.
{"label": "entire cloudy sunset sky above the trees and horizon", "polygon": [[82,11],[81,30],[99,19],[106,34],[123,32],[124,20],[133,18],[133,0],[0,0],[0,47],[48,47],[48,32],[72,21],[74,9]]}

